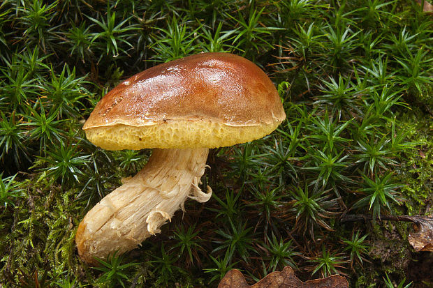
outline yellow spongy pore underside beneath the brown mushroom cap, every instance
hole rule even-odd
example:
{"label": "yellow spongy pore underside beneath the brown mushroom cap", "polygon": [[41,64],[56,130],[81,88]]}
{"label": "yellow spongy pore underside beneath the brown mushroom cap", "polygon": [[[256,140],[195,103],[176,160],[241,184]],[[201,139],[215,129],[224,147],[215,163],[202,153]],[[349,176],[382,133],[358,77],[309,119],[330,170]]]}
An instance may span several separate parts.
{"label": "yellow spongy pore underside beneath the brown mushroom cap", "polygon": [[217,148],[260,139],[270,134],[279,123],[228,126],[205,121],[167,121],[149,126],[117,124],[85,131],[90,142],[107,150]]}

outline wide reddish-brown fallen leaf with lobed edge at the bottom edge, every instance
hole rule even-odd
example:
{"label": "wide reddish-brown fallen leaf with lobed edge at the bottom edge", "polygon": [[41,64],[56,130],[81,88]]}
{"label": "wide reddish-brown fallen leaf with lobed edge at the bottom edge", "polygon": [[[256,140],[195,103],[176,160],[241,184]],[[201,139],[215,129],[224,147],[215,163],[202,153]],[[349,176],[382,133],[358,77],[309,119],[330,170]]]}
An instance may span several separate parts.
{"label": "wide reddish-brown fallen leaf with lobed edge at the bottom edge", "polygon": [[226,273],[224,278],[219,282],[218,288],[347,288],[346,278],[340,275],[332,275],[327,278],[309,280],[302,282],[295,276],[291,267],[284,267],[281,272],[272,272],[256,284],[250,286],[245,280],[244,275],[237,270],[232,269]]}

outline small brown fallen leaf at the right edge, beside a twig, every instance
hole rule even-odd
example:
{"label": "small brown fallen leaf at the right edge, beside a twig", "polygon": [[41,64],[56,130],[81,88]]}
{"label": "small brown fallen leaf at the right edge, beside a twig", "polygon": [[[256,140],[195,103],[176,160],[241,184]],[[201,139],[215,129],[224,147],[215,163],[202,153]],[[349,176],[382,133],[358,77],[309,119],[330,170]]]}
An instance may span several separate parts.
{"label": "small brown fallen leaf at the right edge, beside a twig", "polygon": [[416,218],[413,230],[408,237],[413,249],[433,252],[433,218]]}

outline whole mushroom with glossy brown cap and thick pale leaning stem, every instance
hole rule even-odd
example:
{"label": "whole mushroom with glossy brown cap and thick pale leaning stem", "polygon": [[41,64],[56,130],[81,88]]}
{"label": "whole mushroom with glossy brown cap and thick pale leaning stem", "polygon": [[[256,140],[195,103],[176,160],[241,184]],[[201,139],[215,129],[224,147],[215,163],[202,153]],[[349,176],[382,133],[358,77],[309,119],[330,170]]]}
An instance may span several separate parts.
{"label": "whole mushroom with glossy brown cap and thick pale leaning stem", "polygon": [[149,68],[107,93],[83,129],[108,150],[153,148],[135,176],[80,222],[75,241],[85,262],[124,253],[184,209],[200,190],[209,149],[270,134],[286,118],[277,90],[251,61],[202,53]]}

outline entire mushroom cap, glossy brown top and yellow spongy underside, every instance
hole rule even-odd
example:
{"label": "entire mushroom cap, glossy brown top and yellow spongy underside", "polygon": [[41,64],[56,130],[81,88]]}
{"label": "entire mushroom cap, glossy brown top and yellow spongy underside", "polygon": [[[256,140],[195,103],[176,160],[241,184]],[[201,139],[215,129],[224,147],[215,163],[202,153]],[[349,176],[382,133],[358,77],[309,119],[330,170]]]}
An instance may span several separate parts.
{"label": "entire mushroom cap, glossy brown top and yellow spongy underside", "polygon": [[286,118],[274,84],[251,61],[202,53],[149,68],[96,105],[83,129],[104,149],[214,148],[249,142]]}

